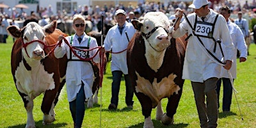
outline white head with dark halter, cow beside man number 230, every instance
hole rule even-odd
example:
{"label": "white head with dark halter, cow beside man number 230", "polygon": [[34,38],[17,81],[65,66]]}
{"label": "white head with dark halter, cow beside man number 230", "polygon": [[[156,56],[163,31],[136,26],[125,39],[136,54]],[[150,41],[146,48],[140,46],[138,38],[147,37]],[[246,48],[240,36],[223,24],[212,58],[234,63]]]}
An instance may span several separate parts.
{"label": "white head with dark halter, cow beside man number 230", "polygon": [[163,12],[148,12],[143,20],[132,20],[132,25],[154,51],[164,51],[170,45],[170,22]]}

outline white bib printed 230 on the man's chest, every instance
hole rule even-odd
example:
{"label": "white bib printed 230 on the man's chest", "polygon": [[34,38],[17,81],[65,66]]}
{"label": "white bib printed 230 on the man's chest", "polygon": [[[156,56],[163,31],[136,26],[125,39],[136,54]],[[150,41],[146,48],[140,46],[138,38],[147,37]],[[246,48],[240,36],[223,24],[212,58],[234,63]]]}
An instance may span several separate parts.
{"label": "white bib printed 230 on the man's chest", "polygon": [[209,22],[196,22],[195,34],[198,36],[206,36],[212,38],[212,26]]}

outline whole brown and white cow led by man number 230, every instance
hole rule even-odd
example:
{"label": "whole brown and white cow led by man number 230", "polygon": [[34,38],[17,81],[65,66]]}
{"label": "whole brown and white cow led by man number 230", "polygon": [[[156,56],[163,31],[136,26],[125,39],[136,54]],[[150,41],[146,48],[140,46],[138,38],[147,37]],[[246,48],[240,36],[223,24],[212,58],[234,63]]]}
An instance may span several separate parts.
{"label": "whole brown and white cow led by man number 230", "polygon": [[[138,31],[127,48],[127,65],[145,116],[144,127],[154,127],[150,115],[156,107],[156,120],[173,124],[184,84],[185,38],[170,38],[170,22],[162,12],[148,12],[132,24]],[[166,113],[161,106],[163,98],[168,98]]]}

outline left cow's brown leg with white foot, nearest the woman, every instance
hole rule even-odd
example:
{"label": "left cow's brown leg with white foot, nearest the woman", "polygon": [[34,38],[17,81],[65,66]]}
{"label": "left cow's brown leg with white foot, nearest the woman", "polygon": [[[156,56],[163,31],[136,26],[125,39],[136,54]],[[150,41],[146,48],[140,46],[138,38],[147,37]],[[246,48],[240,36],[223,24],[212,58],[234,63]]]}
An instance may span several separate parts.
{"label": "left cow's brown leg with white foot, nearest the woman", "polygon": [[51,124],[55,120],[54,99],[56,98],[56,88],[47,90],[44,94],[41,110],[44,113],[43,124]]}

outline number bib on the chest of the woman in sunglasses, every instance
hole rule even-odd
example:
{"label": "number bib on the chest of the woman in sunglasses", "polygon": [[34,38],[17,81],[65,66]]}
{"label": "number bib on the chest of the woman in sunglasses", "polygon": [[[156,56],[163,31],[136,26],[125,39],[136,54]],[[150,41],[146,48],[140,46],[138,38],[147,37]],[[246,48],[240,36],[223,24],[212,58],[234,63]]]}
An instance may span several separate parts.
{"label": "number bib on the chest of the woman in sunglasses", "polygon": [[[73,49],[75,54],[77,54],[77,56],[79,56],[80,58],[90,58],[89,56],[89,51],[83,51],[85,49],[88,49],[88,47],[79,47],[79,46],[72,46],[75,47],[76,49]],[[72,51],[70,51],[70,60],[72,61],[83,61],[80,60],[76,55],[75,55]]]}

